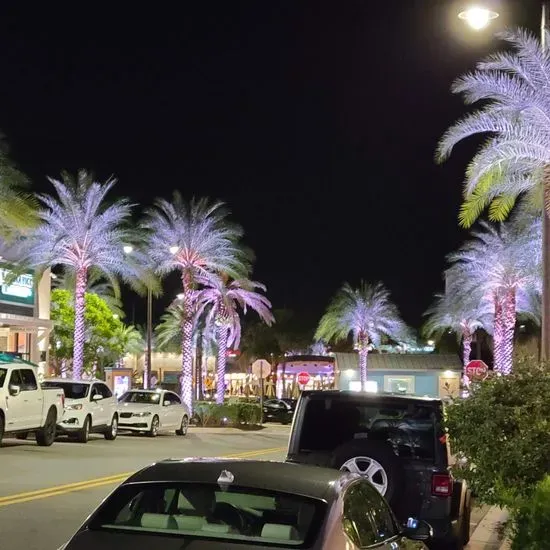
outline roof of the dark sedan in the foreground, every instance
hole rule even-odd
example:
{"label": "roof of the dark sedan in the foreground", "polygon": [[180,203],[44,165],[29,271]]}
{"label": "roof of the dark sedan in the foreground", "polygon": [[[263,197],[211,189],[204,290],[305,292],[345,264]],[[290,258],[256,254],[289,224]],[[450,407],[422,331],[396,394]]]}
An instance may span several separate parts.
{"label": "roof of the dark sedan in the foreground", "polygon": [[338,482],[351,476],[340,470],[293,464],[227,458],[170,458],[135,473],[125,484],[145,482],[193,482],[216,484],[223,470],[235,476],[240,487],[267,489],[333,500]]}

